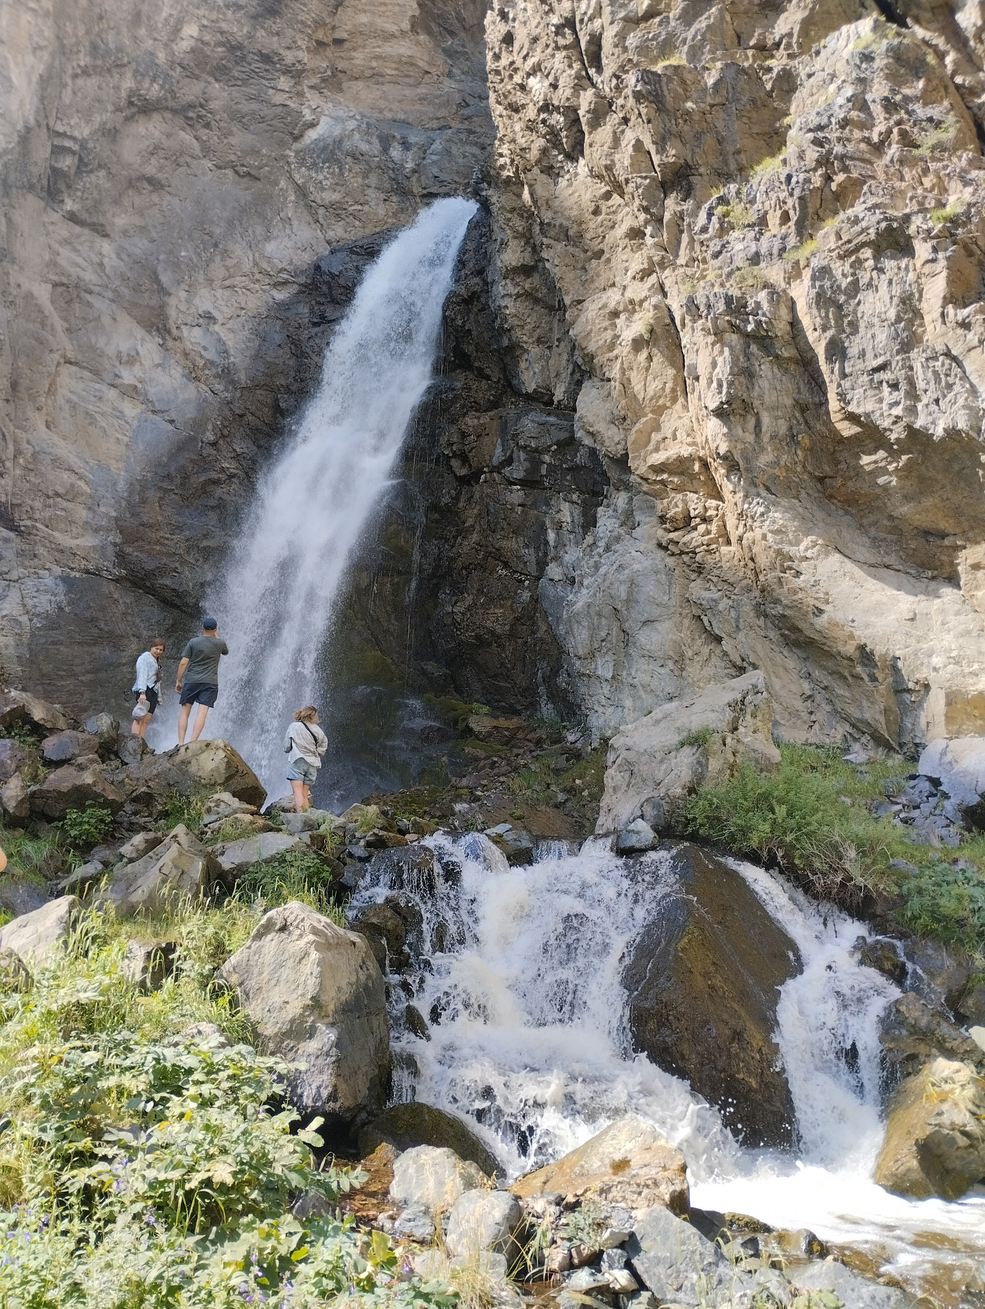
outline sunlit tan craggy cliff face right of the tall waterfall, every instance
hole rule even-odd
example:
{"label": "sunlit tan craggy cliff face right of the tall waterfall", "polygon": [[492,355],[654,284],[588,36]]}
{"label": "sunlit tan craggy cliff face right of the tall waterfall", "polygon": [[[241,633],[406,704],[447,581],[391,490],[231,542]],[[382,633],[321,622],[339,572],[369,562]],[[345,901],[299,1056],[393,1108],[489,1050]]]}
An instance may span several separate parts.
{"label": "sunlit tan craggy cliff face right of the tall waterfall", "polygon": [[980,7],[513,0],[487,38],[500,306],[557,394],[532,249],[578,435],[644,513],[544,584],[595,725],[646,670],[657,699],[691,675],[627,628],[634,597],[641,668],[599,689],[593,624],[632,577],[764,669],[790,736],[981,729]]}

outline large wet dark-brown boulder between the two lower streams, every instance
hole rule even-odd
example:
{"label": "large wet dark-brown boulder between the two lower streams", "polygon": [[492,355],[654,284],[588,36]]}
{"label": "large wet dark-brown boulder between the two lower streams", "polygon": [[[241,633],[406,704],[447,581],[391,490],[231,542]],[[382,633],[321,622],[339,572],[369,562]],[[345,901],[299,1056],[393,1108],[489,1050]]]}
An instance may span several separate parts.
{"label": "large wet dark-brown boulder between the two lower streams", "polygon": [[697,846],[672,851],[623,975],[633,1043],[687,1077],[748,1145],[790,1147],[795,1113],[773,1039],[778,988],[801,970],[794,941],[740,873]]}

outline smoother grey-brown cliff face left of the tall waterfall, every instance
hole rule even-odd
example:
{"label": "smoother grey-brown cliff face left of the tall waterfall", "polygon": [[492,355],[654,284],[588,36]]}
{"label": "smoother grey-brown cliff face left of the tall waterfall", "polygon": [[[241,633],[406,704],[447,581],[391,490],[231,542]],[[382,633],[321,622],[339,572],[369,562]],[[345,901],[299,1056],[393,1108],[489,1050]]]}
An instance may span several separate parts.
{"label": "smoother grey-brown cliff face left of the tall waterfall", "polygon": [[334,325],[315,260],[466,190],[483,0],[0,3],[0,664],[184,636]]}

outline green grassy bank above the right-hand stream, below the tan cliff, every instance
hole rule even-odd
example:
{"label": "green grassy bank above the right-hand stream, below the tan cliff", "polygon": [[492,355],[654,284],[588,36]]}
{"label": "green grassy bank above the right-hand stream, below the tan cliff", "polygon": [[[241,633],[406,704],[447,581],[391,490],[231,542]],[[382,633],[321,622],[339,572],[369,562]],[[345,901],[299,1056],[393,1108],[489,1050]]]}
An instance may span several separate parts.
{"label": "green grassy bank above the right-hand stream, below the tan cliff", "polygon": [[985,956],[985,836],[969,834],[954,850],[918,844],[870,812],[912,764],[888,757],[857,766],[835,747],[781,745],[780,754],[773,774],[743,767],[692,796],[688,833],[780,868],[819,898],[882,910],[912,932]]}

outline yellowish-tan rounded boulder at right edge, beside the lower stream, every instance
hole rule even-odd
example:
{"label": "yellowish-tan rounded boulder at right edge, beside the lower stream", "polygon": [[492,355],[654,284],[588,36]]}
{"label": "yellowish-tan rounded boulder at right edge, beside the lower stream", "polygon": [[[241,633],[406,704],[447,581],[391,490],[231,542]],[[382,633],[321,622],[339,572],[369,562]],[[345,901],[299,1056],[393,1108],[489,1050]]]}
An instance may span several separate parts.
{"label": "yellowish-tan rounded boulder at right edge, beside the lower stream", "polygon": [[896,1090],[875,1181],[900,1195],[956,1200],[985,1179],[985,1080],[933,1059]]}

